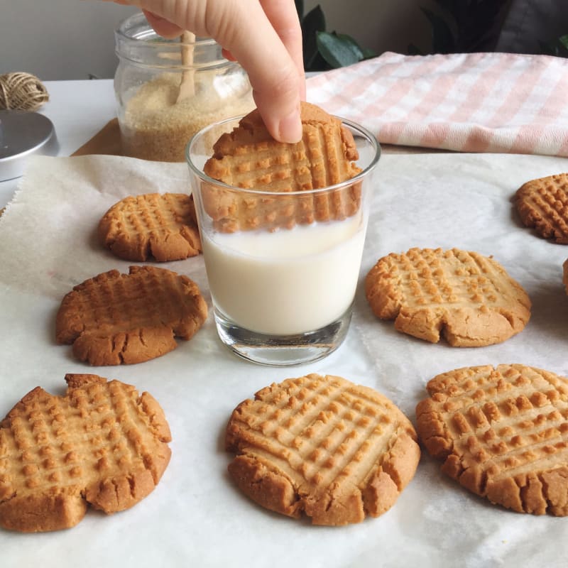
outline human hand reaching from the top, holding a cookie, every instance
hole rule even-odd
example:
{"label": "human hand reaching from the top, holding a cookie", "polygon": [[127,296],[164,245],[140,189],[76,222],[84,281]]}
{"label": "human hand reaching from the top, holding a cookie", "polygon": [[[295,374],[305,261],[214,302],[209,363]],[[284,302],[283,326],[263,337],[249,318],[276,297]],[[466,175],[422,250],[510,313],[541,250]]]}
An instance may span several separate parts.
{"label": "human hand reaching from the top, holding a cookie", "polygon": [[138,6],[158,35],[192,31],[222,45],[249,75],[266,128],[282,142],[302,137],[302,32],[292,0],[104,0]]}

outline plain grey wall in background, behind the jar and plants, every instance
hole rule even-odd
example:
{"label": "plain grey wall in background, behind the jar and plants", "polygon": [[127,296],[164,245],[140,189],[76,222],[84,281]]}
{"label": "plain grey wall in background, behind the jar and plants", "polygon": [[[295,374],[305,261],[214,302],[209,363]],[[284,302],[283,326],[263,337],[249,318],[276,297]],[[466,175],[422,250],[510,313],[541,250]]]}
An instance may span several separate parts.
{"label": "plain grey wall in background, behind the jar and plants", "polygon": [[[317,4],[328,31],[352,35],[378,53],[427,48],[429,26],[419,6],[432,0],[305,0]],[[114,76],[114,28],[136,9],[99,0],[0,0],[0,74],[25,71],[42,80]]]}

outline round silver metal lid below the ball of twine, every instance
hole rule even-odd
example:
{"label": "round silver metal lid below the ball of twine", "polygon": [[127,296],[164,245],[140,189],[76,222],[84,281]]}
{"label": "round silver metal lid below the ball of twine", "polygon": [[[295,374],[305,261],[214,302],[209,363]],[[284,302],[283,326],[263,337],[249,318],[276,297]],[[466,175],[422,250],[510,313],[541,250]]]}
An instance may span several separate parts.
{"label": "round silver metal lid below the ball of twine", "polygon": [[32,155],[57,155],[53,123],[43,114],[0,111],[0,182],[19,178]]}

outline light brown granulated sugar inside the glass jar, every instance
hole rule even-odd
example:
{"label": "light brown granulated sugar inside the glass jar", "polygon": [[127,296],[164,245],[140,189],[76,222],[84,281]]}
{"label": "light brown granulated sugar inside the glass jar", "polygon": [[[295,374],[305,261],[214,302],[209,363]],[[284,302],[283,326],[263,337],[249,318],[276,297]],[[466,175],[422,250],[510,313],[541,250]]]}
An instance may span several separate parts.
{"label": "light brown granulated sugar inside the glass jar", "polygon": [[185,146],[204,126],[246,114],[254,107],[242,78],[217,70],[195,75],[195,96],[180,102],[180,74],[165,72],[144,83],[126,102],[120,121],[124,155],[163,162],[185,161]]}

